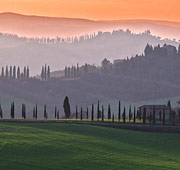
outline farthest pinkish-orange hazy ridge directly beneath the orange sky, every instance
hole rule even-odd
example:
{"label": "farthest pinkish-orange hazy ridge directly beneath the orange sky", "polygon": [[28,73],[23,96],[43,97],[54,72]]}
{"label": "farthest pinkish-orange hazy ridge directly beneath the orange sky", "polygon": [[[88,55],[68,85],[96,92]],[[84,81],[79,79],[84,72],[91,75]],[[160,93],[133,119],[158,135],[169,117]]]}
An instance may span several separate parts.
{"label": "farthest pinkish-orange hazy ridge directly beneath the orange sky", "polygon": [[0,32],[31,37],[80,36],[98,31],[128,28],[133,32],[143,32],[148,29],[153,34],[161,37],[180,39],[180,23],[169,21],[93,21],[79,18],[53,18],[1,13],[0,23]]}

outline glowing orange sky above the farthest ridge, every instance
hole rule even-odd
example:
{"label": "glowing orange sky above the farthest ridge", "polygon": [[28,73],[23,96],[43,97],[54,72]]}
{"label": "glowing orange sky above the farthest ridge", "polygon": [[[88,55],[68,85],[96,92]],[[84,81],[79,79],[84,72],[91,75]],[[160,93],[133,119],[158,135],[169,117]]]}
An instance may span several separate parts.
{"label": "glowing orange sky above the farthest ridge", "polygon": [[0,0],[0,12],[94,20],[180,22],[180,0]]}

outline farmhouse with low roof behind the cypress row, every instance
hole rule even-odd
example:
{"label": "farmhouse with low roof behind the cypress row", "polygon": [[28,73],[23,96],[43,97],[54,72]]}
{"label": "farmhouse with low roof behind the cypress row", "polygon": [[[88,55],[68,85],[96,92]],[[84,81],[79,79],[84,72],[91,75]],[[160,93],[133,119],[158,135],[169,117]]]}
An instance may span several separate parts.
{"label": "farmhouse with low roof behind the cypress row", "polygon": [[170,115],[170,107],[167,105],[143,105],[139,107],[139,111],[143,113],[144,108],[146,109],[146,116],[149,117],[150,114],[155,112],[156,120],[160,120],[163,117],[163,113],[165,112],[165,120],[169,120]]}

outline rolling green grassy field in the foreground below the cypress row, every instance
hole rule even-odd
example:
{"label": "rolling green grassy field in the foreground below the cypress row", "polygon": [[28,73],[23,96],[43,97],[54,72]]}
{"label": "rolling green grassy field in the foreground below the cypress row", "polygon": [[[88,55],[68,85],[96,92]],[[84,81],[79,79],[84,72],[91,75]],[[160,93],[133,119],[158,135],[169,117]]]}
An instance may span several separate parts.
{"label": "rolling green grassy field in the foreground below the cypress row", "polygon": [[180,169],[179,141],[89,125],[0,123],[0,169]]}

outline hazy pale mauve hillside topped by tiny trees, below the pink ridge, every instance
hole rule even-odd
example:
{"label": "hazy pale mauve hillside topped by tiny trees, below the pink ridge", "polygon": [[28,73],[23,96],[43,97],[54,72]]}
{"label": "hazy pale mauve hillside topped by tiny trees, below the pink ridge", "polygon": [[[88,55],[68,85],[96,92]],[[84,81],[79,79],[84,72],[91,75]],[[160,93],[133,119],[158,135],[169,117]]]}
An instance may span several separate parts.
{"label": "hazy pale mauve hillside topped by tiny trees, below the pink ridge", "polygon": [[0,34],[0,67],[29,65],[31,74],[35,75],[40,74],[44,64],[50,65],[52,71],[76,63],[100,65],[104,58],[113,61],[142,54],[147,43],[179,45],[176,41],[154,36],[149,31],[140,34],[130,30],[99,32],[96,35],[81,36],[79,40],[74,39],[73,43],[64,42],[63,39],[60,42],[59,39],[47,38],[29,40],[16,35]]}

